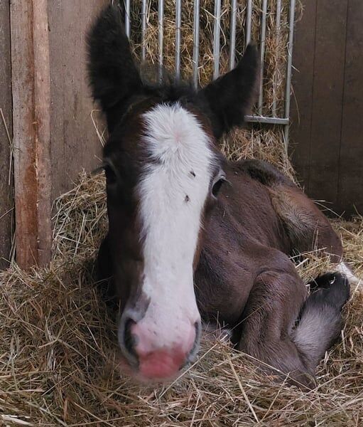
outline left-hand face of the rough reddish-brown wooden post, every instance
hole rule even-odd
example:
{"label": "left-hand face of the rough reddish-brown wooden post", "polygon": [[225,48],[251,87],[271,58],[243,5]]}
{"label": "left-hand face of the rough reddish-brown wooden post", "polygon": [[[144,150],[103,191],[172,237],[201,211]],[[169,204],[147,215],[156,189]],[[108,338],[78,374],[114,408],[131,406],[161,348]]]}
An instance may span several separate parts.
{"label": "left-hand face of the rough reddish-brown wooden post", "polygon": [[11,2],[11,68],[16,260],[22,268],[26,268],[38,262],[31,1]]}

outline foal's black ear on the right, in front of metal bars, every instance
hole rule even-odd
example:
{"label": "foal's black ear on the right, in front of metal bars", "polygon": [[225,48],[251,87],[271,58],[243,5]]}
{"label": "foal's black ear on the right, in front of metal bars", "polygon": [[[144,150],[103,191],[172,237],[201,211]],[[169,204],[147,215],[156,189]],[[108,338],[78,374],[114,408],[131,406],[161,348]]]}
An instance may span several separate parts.
{"label": "foal's black ear on the right, in front of metal bars", "polygon": [[244,122],[244,115],[254,100],[258,69],[256,48],[249,45],[234,70],[200,90],[198,96],[207,101],[212,112],[211,122],[217,139]]}

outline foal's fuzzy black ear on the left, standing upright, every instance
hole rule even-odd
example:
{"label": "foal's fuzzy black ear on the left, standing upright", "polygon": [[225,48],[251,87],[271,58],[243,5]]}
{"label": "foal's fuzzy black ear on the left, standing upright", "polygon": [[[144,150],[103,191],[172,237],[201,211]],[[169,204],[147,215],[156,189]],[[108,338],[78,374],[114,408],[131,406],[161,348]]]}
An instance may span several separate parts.
{"label": "foal's fuzzy black ear on the left, standing upright", "polygon": [[139,95],[143,86],[119,9],[110,5],[101,12],[88,33],[87,43],[92,95],[100,102],[112,131],[131,97]]}

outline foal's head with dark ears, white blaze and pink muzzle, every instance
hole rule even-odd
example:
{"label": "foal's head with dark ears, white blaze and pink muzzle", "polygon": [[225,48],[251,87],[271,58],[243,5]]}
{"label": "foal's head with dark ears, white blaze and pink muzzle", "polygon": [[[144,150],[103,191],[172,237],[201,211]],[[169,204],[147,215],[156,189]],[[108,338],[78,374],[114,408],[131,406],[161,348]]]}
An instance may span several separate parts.
{"label": "foal's head with dark ears, white blaze and pink muzzle", "polygon": [[193,272],[224,181],[217,139],[244,120],[256,52],[248,47],[237,68],[195,91],[141,81],[112,7],[89,44],[93,95],[110,135],[104,168],[119,344],[139,377],[168,379],[197,353]]}

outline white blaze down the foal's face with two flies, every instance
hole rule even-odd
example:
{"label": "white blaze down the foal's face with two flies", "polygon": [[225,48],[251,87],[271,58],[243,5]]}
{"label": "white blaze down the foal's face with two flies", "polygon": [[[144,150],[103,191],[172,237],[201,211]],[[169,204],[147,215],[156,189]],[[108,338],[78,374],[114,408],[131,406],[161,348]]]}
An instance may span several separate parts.
{"label": "white blaze down the foal's face with two flies", "polygon": [[[150,297],[141,320],[175,342],[199,320],[193,258],[212,174],[209,137],[179,104],[158,105],[143,115],[148,164],[139,184],[143,224],[143,292]],[[183,327],[184,326],[184,327]],[[153,332],[151,330],[151,332]],[[175,333],[177,336],[175,336]]]}

